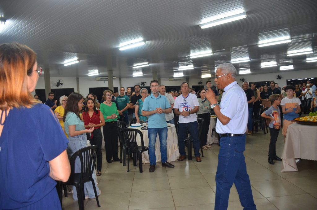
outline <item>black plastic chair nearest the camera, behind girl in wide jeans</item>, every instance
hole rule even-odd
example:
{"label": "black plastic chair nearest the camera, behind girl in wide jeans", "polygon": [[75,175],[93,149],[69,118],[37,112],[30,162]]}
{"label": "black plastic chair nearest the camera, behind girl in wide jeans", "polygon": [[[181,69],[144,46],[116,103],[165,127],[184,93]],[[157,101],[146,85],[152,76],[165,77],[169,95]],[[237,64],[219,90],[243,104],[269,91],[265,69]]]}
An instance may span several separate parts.
{"label": "black plastic chair nearest the camera, behind girl in wide jeans", "polygon": [[[64,194],[67,197],[67,190],[65,190],[65,185],[74,185],[77,191],[78,205],[80,210],[84,210],[84,183],[91,181],[94,187],[94,193],[97,200],[97,206],[100,207],[98,194],[93,180],[92,174],[94,173],[94,165],[96,162],[96,150],[97,145],[81,148],[76,151],[70,158],[70,176],[67,182],[63,182],[64,185]],[[81,172],[75,173],[75,160],[79,157],[81,163]]]}

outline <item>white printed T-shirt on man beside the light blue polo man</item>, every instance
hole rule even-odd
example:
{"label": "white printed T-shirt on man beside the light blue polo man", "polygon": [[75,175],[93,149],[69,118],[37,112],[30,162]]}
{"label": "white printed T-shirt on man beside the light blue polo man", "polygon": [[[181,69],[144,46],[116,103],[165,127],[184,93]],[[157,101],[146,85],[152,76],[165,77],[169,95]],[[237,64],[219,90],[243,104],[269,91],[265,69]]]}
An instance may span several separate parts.
{"label": "white printed T-shirt on man beside the light blue polo man", "polygon": [[[195,106],[199,106],[198,98],[196,95],[189,93],[186,98],[183,95],[179,95],[175,99],[174,108],[178,108],[179,112],[183,111],[191,111]],[[186,123],[186,122],[194,122],[197,121],[196,114],[188,115],[184,117],[179,115],[178,122]]]}

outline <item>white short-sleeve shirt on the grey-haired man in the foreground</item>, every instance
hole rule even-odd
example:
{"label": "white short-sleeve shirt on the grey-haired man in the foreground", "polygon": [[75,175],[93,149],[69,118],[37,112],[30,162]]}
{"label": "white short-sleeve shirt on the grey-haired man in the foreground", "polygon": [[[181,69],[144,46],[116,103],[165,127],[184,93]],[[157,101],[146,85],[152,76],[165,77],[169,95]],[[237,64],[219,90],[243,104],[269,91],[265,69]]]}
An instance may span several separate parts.
{"label": "white short-sleeve shirt on the grey-haired man in the foreground", "polygon": [[243,89],[236,81],[224,88],[219,106],[220,112],[229,117],[230,121],[223,125],[217,119],[216,132],[218,134],[244,134],[248,124],[248,101]]}

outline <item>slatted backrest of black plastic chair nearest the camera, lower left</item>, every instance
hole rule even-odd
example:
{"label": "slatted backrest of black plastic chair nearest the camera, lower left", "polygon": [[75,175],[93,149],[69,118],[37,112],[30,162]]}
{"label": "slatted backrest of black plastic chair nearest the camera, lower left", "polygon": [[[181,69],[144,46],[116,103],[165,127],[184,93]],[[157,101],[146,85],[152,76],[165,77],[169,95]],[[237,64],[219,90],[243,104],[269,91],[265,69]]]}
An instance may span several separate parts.
{"label": "slatted backrest of black plastic chair nearest the camera, lower left", "polygon": [[77,157],[79,158],[81,164],[81,180],[89,180],[89,177],[91,177],[94,171],[97,147],[97,145],[93,145],[81,148],[70,157],[71,173],[68,181],[74,182],[75,160]]}

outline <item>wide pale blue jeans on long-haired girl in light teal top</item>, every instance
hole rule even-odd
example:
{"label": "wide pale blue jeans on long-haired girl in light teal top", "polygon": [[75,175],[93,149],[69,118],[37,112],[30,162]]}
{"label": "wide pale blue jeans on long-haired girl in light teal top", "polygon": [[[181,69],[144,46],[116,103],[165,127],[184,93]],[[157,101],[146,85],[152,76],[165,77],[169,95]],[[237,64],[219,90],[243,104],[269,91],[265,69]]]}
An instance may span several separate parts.
{"label": "wide pale blue jeans on long-haired girl in light teal top", "polygon": [[[79,149],[87,147],[87,136],[86,136],[86,134],[81,134],[81,135],[78,135],[78,136],[69,136],[68,141],[69,141],[69,143],[68,143],[68,147],[67,147],[67,153],[68,153],[69,157],[71,157]],[[80,173],[80,172],[81,172],[81,163],[80,163],[79,157],[77,157],[76,161],[75,161],[75,173]],[[92,177],[93,177],[93,180],[95,182],[95,187],[96,187],[96,190],[97,190],[97,194],[99,194],[99,188],[96,185],[97,182],[96,182],[95,173],[93,173]],[[95,198],[94,188],[93,188],[93,185],[91,184],[90,181],[86,182],[84,184],[84,188],[85,188],[85,190],[84,190],[85,197],[88,195],[89,198],[91,198],[91,199]],[[76,191],[76,187],[75,186],[73,186],[73,191],[74,191],[73,199],[74,200],[78,200],[77,191]]]}

